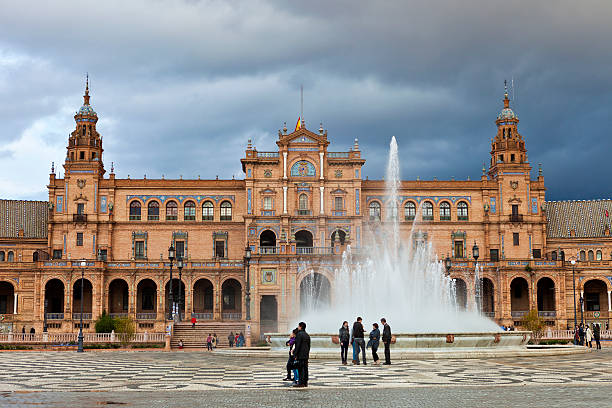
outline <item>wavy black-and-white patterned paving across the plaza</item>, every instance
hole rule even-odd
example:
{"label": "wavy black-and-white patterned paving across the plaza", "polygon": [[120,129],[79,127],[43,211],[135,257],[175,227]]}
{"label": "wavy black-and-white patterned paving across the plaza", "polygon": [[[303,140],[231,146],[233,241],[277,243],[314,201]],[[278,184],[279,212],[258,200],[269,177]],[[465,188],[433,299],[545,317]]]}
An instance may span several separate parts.
{"label": "wavy black-and-white patterned paving across the plaza", "polygon": [[[205,352],[0,353],[0,391],[284,388],[285,362]],[[424,387],[612,384],[612,350],[508,359],[401,361],[341,366],[311,361],[310,386]]]}

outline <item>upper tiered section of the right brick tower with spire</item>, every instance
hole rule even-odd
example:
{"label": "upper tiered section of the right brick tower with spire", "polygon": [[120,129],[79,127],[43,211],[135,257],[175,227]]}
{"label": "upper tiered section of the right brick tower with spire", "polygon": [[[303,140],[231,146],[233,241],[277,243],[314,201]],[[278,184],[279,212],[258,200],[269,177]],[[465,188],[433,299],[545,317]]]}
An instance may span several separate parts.
{"label": "upper tiered section of the right brick tower with spire", "polygon": [[504,108],[495,120],[497,134],[491,141],[491,165],[489,167],[491,178],[497,178],[500,172],[531,169],[527,160],[525,141],[518,132],[518,116],[510,108],[508,87],[505,81],[504,88]]}

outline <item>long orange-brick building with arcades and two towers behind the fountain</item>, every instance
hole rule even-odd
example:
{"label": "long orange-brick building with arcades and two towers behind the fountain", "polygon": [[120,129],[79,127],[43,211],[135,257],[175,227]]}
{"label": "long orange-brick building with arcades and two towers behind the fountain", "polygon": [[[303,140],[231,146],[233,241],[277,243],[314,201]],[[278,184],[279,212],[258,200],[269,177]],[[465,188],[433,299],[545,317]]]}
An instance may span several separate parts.
{"label": "long orange-brick building with arcades and two towers behind the fountain", "polygon": [[404,238],[413,234],[452,258],[459,298],[475,290],[478,245],[483,313],[499,324],[519,326],[537,309],[547,324],[571,326],[576,293],[585,320],[606,327],[612,202],[546,202],[507,94],[503,103],[479,180],[402,181],[399,202],[390,203],[383,180],[363,177],[357,140],[348,151],[329,151],[327,131],[303,122],[279,131],[275,151],[249,141],[243,180],[118,179],[112,167],[107,175],[86,88],[65,176],[52,170],[49,200],[0,201],[3,327],[40,331],[46,317],[48,330],[76,331],[83,302],[86,330],[107,311],[131,316],[139,331],[161,331],[172,245],[184,259],[180,285],[173,264],[172,292],[187,318],[245,321],[249,309],[254,336],[285,330],[299,312],[304,263],[333,285],[329,271],[345,248],[358,251],[372,225],[389,217],[399,217]]}

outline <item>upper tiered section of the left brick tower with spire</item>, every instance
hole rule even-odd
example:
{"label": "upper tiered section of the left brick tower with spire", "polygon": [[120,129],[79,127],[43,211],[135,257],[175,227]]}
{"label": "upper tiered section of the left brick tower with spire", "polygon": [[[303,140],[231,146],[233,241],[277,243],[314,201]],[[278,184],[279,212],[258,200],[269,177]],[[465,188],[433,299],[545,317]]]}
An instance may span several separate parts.
{"label": "upper tiered section of the left brick tower with spire", "polygon": [[85,84],[83,106],[74,115],[76,129],[70,133],[64,168],[66,172],[75,169],[92,170],[102,176],[105,172],[102,163],[102,138],[96,131],[98,115],[89,104],[89,77]]}

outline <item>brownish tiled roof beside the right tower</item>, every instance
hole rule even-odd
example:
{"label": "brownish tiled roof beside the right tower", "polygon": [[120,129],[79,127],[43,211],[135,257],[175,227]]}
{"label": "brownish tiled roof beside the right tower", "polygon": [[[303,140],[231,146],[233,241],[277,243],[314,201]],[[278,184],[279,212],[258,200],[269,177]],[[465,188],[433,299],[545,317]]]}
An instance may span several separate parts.
{"label": "brownish tiled roof beside the right tower", "polygon": [[572,230],[577,238],[603,237],[612,222],[612,200],[547,201],[546,218],[549,238],[569,238]]}

